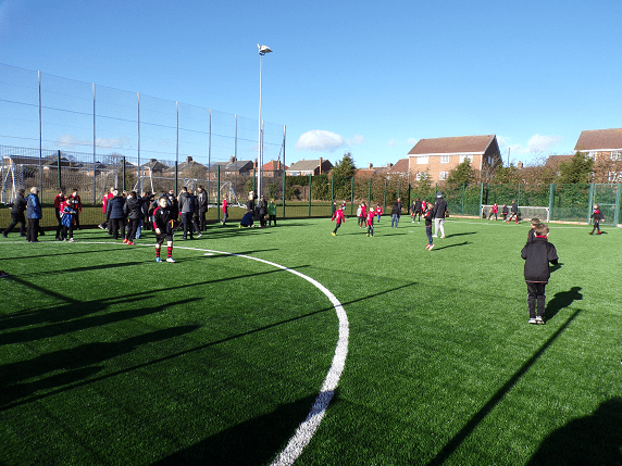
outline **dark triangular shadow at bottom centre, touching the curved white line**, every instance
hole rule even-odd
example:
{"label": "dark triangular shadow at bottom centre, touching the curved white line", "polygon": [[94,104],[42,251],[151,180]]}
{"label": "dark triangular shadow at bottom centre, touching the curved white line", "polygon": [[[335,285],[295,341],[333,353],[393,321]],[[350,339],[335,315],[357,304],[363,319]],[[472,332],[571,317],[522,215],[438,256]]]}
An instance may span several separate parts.
{"label": "dark triangular shadow at bottom centre, touching the curved white line", "polygon": [[[152,465],[269,464],[307,418],[314,401],[315,395],[282,404],[272,413],[229,427]],[[331,405],[336,402],[337,392]]]}

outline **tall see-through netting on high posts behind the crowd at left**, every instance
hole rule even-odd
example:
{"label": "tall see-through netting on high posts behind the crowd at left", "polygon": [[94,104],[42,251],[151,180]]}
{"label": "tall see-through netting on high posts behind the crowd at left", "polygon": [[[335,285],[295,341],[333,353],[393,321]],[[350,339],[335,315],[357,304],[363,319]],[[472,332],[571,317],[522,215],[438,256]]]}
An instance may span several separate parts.
{"label": "tall see-through netting on high posts behind the crowd at left", "polygon": [[[66,188],[77,184],[83,199],[94,204],[116,173],[130,178],[126,186],[134,177],[136,190],[144,191],[156,188],[158,177],[175,178],[184,172],[204,178],[213,192],[219,164],[224,168],[235,163],[244,176],[258,159],[285,163],[284,125],[262,122],[259,156],[258,119],[3,64],[0,122],[4,172],[11,172],[11,163],[23,165],[41,191],[51,187],[54,173],[61,180],[64,175]],[[66,173],[54,168],[57,159]],[[146,178],[149,184],[142,186]],[[11,201],[7,186],[2,188],[0,201]]]}

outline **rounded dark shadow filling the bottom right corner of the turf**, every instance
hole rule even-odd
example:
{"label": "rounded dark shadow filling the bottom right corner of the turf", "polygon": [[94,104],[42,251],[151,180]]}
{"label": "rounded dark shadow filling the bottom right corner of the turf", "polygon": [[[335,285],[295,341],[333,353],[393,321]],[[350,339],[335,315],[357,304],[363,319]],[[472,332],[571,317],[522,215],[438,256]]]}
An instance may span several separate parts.
{"label": "rounded dark shadow filling the bottom right corner of the turf", "polygon": [[527,466],[621,464],[622,398],[615,396],[546,437]]}

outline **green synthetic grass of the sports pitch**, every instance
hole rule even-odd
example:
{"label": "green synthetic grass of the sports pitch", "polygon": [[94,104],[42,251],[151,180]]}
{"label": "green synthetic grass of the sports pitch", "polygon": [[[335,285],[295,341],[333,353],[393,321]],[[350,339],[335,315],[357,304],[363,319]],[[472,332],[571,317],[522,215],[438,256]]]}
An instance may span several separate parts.
{"label": "green synthetic grass of the sports pitch", "polygon": [[[528,224],[385,216],[153,237],[0,238],[0,464],[270,464],[304,420],[344,305],[349,352],[297,465],[622,462],[622,232],[551,225],[562,266],[527,325]],[[95,242],[102,242],[101,244]],[[194,249],[183,249],[189,247]],[[163,249],[164,251],[164,249]],[[165,255],[165,253],[163,253]],[[531,462],[531,463],[530,463]]]}

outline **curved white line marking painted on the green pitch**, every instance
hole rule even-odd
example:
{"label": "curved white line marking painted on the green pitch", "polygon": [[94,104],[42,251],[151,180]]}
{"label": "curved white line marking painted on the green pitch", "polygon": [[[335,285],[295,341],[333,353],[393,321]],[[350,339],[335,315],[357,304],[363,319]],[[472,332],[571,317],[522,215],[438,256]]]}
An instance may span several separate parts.
{"label": "curved white line marking painted on the green pitch", "polygon": [[[80,241],[82,244],[111,244],[110,242],[99,242],[99,241]],[[117,244],[117,243],[112,243]],[[153,244],[136,244],[136,245],[150,245]],[[282,270],[289,272],[294,275],[299,276],[300,278],[306,279],[320,291],[322,291],[326,298],[333,303],[333,307],[335,307],[335,312],[337,313],[337,318],[339,319],[339,338],[337,340],[337,348],[335,348],[335,355],[333,356],[333,363],[331,364],[331,368],[328,369],[328,374],[326,374],[326,378],[324,379],[324,383],[322,385],[322,389],[315,398],[315,402],[311,406],[311,411],[307,415],[307,419],[298,426],[294,436],[289,439],[287,446],[278,453],[278,455],[272,462],[274,466],[290,466],[294,464],[302,450],[309,444],[311,439],[313,438],[318,427],[320,427],[320,423],[324,418],[326,414],[326,408],[335,394],[335,389],[339,383],[339,379],[341,378],[341,374],[344,373],[344,367],[346,365],[346,356],[348,355],[348,338],[349,338],[349,323],[348,323],[348,315],[346,311],[344,311],[344,306],[339,302],[339,300],[322,284],[314,280],[313,278],[301,274],[298,270],[294,270],[291,268],[285,267],[284,265],[276,264],[275,262],[265,261],[263,259],[253,257],[251,255],[244,255],[244,254],[235,254],[233,252],[225,252],[225,251],[215,251],[211,249],[199,249],[199,248],[189,248],[184,245],[175,245],[175,249],[187,249],[191,251],[201,251],[208,252],[213,254],[224,254],[224,255],[234,255],[237,257],[245,257],[250,259],[252,261],[262,262],[268,265],[272,265],[273,267],[281,268]],[[207,255],[207,254],[206,254]]]}

